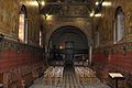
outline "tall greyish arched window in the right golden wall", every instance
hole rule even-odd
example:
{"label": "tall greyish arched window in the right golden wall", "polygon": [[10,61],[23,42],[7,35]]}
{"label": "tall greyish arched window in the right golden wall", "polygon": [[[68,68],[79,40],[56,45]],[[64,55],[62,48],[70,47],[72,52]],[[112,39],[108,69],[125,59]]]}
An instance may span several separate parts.
{"label": "tall greyish arched window in the right golden wall", "polygon": [[114,43],[123,40],[124,36],[124,15],[121,7],[117,8],[114,21]]}

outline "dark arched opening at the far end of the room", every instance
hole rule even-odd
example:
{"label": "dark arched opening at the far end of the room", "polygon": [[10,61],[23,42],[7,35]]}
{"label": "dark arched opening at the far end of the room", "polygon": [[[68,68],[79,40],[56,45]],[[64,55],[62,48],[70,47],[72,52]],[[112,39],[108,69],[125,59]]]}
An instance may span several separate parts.
{"label": "dark arched opening at the far end of the room", "polygon": [[88,62],[87,36],[76,26],[58,28],[51,35],[48,52],[50,62],[61,61],[65,64],[82,65],[82,62]]}

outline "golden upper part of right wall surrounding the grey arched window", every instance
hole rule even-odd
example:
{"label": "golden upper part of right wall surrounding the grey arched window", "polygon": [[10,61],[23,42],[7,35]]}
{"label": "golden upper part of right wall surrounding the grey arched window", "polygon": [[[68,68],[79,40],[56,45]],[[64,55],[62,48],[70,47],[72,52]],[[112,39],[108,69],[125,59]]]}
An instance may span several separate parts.
{"label": "golden upper part of right wall surrounding the grey arched window", "polygon": [[[109,0],[106,0],[109,1]],[[132,24],[132,2],[131,0],[110,0],[111,7],[102,7],[102,16],[99,19],[96,31],[100,33],[100,46],[113,44],[113,30],[116,22],[116,11],[118,7],[121,7],[124,15],[124,37],[123,41],[131,40],[131,24]]]}

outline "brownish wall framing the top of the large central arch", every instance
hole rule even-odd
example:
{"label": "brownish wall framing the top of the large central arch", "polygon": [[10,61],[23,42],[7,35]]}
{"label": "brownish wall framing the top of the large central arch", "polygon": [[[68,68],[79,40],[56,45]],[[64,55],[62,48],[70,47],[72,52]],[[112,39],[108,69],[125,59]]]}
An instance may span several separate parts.
{"label": "brownish wall framing the top of the large central arch", "polygon": [[[43,15],[44,19],[44,15]],[[48,40],[53,32],[62,26],[76,26],[80,31],[82,31],[87,38],[88,43],[91,43],[91,19],[90,18],[56,18],[52,16],[51,20],[45,20],[44,19],[44,26],[46,30],[46,45],[48,45]]]}

